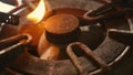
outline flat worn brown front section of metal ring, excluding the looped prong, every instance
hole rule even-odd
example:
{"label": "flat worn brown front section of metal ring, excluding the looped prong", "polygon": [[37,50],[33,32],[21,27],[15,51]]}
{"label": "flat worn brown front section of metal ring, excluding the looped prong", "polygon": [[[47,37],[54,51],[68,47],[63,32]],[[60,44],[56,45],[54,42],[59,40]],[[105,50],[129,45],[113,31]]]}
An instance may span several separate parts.
{"label": "flat worn brown front section of metal ring, excluding the looped prong", "polygon": [[[123,56],[123,53],[125,54],[130,47],[111,39],[109,36],[108,31],[106,31],[106,34],[108,35],[105,36],[104,41],[99,45],[98,49],[93,51],[93,53],[99,57],[101,57],[110,66],[115,62],[117,62]],[[98,73],[101,71],[99,69],[98,66],[95,66],[95,64],[93,64],[91,60],[88,60],[84,56],[80,56],[78,57],[78,60],[81,62],[80,63],[81,66],[84,66],[83,71],[88,69],[88,73],[92,72],[91,74],[93,74],[95,72]],[[32,55],[29,52],[29,50],[27,50],[24,53],[22,53],[22,55],[18,57],[18,60],[14,63],[14,66],[16,66],[14,68],[28,74],[45,74],[45,75],[53,74],[53,73],[57,75],[58,74],[61,74],[61,75],[79,74],[79,72],[73,66],[70,60],[44,61]]]}

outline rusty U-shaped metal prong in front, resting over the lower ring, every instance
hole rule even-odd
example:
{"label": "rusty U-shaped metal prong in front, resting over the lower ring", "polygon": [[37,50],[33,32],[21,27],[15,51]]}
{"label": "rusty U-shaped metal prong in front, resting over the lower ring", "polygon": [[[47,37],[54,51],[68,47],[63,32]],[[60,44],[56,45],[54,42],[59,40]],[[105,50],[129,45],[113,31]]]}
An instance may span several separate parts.
{"label": "rusty U-shaped metal prong in front, resting over the lower ring", "polygon": [[100,58],[99,56],[96,56],[86,45],[80,43],[80,42],[74,42],[68,45],[66,47],[66,53],[69,54],[71,61],[73,62],[73,64],[75,65],[75,67],[79,69],[80,74],[85,75],[88,74],[88,72],[83,71],[82,66],[80,66],[80,61],[78,61],[78,57],[75,56],[75,53],[72,50],[73,45],[78,45],[88,56],[91,56],[100,66],[101,66],[101,71],[108,67],[108,64]]}

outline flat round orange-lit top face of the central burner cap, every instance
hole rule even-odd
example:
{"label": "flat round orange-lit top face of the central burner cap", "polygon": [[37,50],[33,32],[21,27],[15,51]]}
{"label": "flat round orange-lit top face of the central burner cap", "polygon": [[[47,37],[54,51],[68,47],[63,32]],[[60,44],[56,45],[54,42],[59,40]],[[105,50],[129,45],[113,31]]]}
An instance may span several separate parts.
{"label": "flat round orange-lit top face of the central burner cap", "polygon": [[72,32],[78,26],[79,20],[72,14],[55,14],[45,22],[45,30],[55,34]]}

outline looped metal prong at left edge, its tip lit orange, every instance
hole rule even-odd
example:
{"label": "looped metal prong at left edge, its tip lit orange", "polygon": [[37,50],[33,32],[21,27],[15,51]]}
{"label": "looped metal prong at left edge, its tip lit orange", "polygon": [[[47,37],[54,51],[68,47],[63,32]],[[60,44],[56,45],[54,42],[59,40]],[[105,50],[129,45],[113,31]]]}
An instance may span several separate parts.
{"label": "looped metal prong at left edge, its tip lit orange", "polygon": [[20,46],[20,45],[25,45],[25,44],[31,43],[32,36],[31,36],[30,34],[19,34],[19,35],[9,38],[9,39],[1,40],[1,41],[0,41],[0,45],[4,45],[4,44],[7,44],[7,43],[11,43],[11,42],[17,41],[17,40],[19,40],[18,43],[12,44],[12,45],[9,46],[9,47],[6,47],[6,49],[0,50],[0,55],[1,55],[1,54],[4,54],[6,52],[11,51],[11,50],[14,49],[14,47]]}

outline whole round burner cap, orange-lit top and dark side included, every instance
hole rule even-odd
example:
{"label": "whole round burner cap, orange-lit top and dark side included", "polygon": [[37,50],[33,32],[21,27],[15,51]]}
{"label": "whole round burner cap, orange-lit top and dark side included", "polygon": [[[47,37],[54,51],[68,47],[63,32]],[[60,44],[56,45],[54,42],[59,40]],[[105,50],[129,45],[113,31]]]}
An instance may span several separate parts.
{"label": "whole round burner cap, orange-lit top and dark side included", "polygon": [[72,14],[55,14],[45,21],[45,36],[52,43],[75,41],[79,31],[79,20]]}

